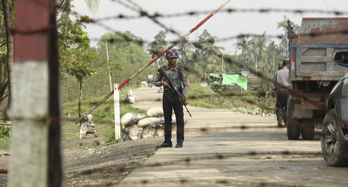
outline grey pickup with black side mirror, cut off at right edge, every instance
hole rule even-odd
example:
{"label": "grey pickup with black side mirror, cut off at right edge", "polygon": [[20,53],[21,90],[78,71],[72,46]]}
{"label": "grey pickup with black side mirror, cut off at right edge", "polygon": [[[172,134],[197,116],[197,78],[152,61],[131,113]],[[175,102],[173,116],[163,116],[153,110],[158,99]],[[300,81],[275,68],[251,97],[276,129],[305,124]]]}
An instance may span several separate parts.
{"label": "grey pickup with black side mirror, cut off at right edge", "polygon": [[[348,67],[348,50],[337,51],[336,64]],[[332,167],[348,166],[348,73],[334,86],[328,98],[322,127],[321,147],[325,162]]]}

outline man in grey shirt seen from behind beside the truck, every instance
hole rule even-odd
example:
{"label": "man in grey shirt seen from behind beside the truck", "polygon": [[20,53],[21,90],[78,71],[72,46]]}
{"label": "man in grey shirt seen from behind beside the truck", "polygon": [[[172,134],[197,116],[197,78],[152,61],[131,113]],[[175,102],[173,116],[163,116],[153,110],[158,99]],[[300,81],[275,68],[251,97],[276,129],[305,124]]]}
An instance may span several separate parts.
{"label": "man in grey shirt seen from behind beside the truck", "polygon": [[[281,127],[281,122],[285,117],[287,109],[287,100],[289,98],[289,61],[284,60],[282,69],[274,73],[272,79],[272,97],[275,98],[277,92],[277,100],[275,103],[275,114],[277,116],[278,127]],[[284,119],[284,123],[285,123]]]}

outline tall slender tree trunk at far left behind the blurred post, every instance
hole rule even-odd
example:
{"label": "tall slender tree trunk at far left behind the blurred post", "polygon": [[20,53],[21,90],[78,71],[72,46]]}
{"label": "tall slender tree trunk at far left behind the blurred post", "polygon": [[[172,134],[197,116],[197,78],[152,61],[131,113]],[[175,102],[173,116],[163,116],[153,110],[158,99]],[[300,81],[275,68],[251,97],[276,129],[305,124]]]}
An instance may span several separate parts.
{"label": "tall slender tree trunk at far left behind the blurred post", "polygon": [[12,70],[13,70],[13,37],[10,32],[11,28],[11,12],[9,10],[8,0],[2,0],[3,17],[5,21],[6,28],[6,47],[7,47],[7,76],[8,76],[8,101],[7,108],[10,106],[11,102],[11,88],[12,88]]}

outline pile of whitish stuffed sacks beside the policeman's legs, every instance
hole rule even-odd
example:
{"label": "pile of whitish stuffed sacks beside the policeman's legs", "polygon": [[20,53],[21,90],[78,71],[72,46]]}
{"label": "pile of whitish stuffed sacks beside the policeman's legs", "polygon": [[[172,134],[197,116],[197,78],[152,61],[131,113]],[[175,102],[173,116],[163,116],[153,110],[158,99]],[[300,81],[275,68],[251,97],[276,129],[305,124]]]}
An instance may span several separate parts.
{"label": "pile of whitish stuffed sacks beside the policeman's legs", "polygon": [[[125,114],[121,120],[123,141],[162,137],[165,134],[163,108],[151,108],[147,114]],[[184,120],[186,123],[186,121]],[[176,135],[176,119],[172,114],[172,135]]]}

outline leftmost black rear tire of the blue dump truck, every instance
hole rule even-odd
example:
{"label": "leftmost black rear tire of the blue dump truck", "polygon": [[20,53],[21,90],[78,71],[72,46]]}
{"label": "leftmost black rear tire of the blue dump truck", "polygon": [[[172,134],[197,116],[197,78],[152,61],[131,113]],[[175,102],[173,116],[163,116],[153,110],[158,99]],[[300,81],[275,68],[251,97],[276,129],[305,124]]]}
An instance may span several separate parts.
{"label": "leftmost black rear tire of the blue dump truck", "polygon": [[286,125],[286,135],[288,140],[298,140],[300,137],[300,127],[298,122],[292,119],[292,107],[291,107],[291,99],[289,98],[287,101],[287,125]]}

